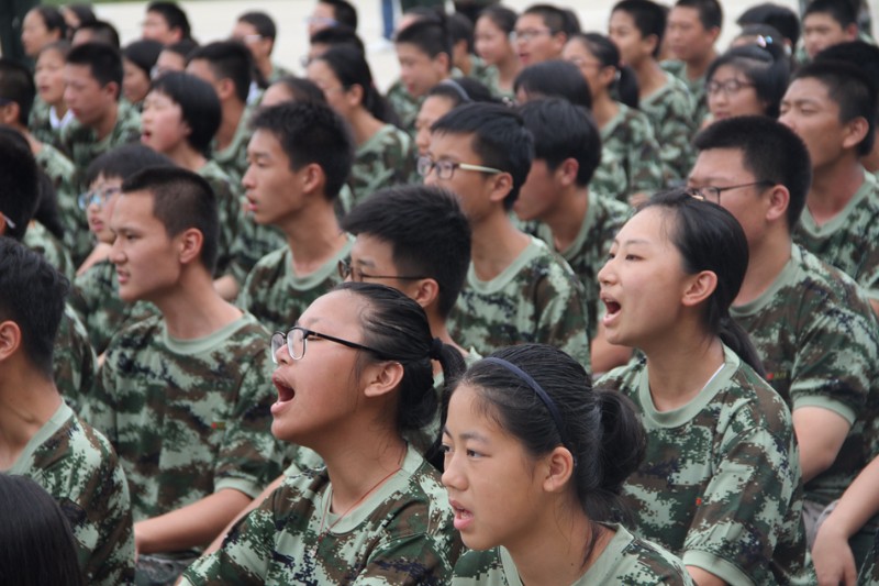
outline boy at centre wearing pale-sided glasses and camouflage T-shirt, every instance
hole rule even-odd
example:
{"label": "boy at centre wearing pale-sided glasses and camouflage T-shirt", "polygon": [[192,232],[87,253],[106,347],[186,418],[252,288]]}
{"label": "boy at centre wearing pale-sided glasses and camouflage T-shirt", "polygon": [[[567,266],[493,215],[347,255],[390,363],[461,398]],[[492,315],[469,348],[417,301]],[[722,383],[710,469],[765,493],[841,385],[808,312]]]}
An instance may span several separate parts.
{"label": "boy at centre wearing pale-sided glasses and camouflage T-shirt", "polygon": [[521,342],[553,344],[588,367],[582,286],[567,263],[520,232],[509,217],[532,150],[522,118],[502,106],[467,103],[432,126],[419,172],[426,185],[458,196],[474,234],[467,281],[450,317],[452,336],[480,353]]}

